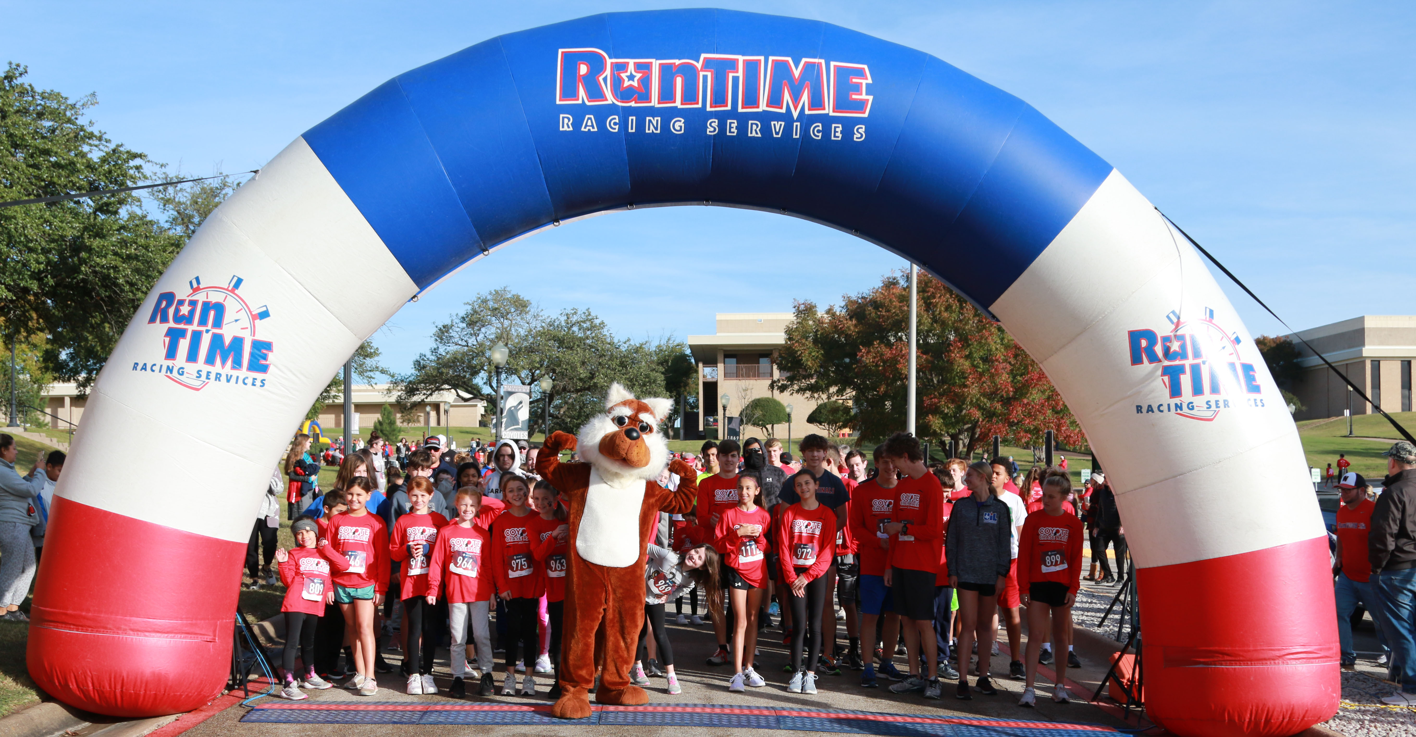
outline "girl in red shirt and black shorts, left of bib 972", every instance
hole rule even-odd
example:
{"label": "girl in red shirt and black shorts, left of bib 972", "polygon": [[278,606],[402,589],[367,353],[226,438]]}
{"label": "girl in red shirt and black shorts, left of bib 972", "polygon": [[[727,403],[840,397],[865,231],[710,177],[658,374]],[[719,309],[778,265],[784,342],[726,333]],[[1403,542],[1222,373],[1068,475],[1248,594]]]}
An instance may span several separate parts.
{"label": "girl in red shirt and black shorts, left of bib 972", "polygon": [[[718,446],[718,454],[722,454],[722,444]],[[752,652],[758,645],[758,610],[762,608],[762,588],[767,584],[767,529],[772,525],[766,509],[758,506],[760,498],[758,478],[739,475],[738,505],[718,513],[714,528],[714,547],[724,553],[724,584],[728,587],[736,625],[732,637],[733,675],[728,683],[728,690],[735,693],[746,690],[743,685],[767,683],[752,669]],[[746,668],[743,662],[748,663]]]}

